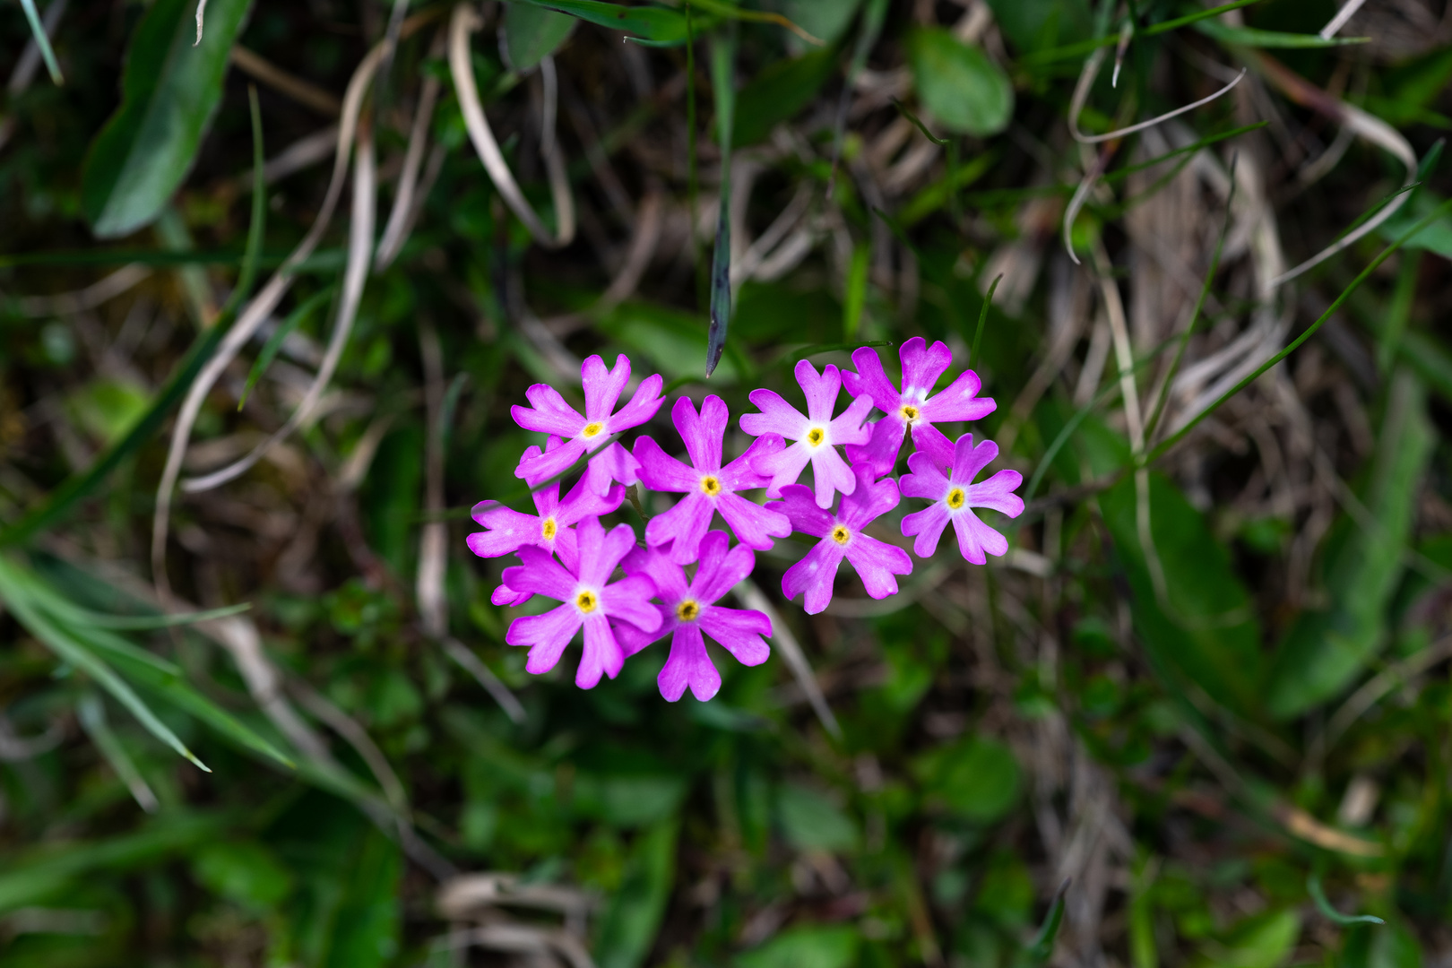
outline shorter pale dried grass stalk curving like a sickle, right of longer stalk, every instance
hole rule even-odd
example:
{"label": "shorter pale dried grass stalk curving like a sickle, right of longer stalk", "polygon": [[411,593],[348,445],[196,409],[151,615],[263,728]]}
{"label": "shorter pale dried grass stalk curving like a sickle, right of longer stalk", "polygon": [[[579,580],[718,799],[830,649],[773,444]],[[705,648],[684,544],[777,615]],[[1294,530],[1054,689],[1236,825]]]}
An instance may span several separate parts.
{"label": "shorter pale dried grass stalk curving like a sickle, right of longer stalk", "polygon": [[279,441],[292,435],[292,431],[303,425],[324,390],[333,380],[338,363],[343,360],[343,350],[353,334],[353,322],[357,319],[359,303],[363,300],[363,286],[367,283],[369,267],[373,255],[373,218],[378,206],[378,171],[373,167],[373,131],[370,125],[359,128],[357,161],[353,167],[353,223],[348,228],[348,261],[343,271],[343,298],[338,300],[338,318],[333,324],[333,337],[328,340],[328,350],[322,356],[322,366],[312,380],[306,395],[298,408],[287,418],[287,422],[276,430],[267,440],[257,444],[250,454],[221,470],[215,470],[202,477],[190,477],[182,482],[182,489],[187,493],[211,491],[219,485],[241,476],[253,464],[272,450]]}

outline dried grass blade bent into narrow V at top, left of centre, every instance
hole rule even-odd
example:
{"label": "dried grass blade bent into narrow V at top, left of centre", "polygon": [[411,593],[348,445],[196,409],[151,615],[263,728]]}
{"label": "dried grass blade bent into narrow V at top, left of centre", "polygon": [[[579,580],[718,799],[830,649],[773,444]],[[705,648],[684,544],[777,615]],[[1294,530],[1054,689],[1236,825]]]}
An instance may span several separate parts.
{"label": "dried grass blade bent into narrow V at top, left of centre", "polygon": [[[524,193],[520,192],[514,174],[510,171],[499,142],[494,139],[494,129],[484,113],[479,102],[479,86],[473,78],[473,64],[469,61],[469,36],[484,25],[484,19],[468,3],[460,3],[453,10],[449,22],[449,71],[453,77],[454,93],[459,97],[459,110],[463,113],[465,126],[469,129],[469,141],[484,163],[485,171],[494,180],[494,187],[499,192],[504,203],[510,206],[515,218],[524,223],[534,241],[546,248],[563,248],[575,238],[575,199],[569,193],[569,181],[565,177],[565,163],[559,154],[559,144],[555,139],[555,104],[558,103],[558,84],[555,80],[555,64],[550,58],[540,61],[540,74],[544,78],[544,122],[540,151],[544,155],[544,168],[549,173],[550,197],[555,200],[555,215],[559,219],[558,234],[550,234],[544,228],[539,215],[530,206]],[[546,71],[546,61],[549,70]]]}

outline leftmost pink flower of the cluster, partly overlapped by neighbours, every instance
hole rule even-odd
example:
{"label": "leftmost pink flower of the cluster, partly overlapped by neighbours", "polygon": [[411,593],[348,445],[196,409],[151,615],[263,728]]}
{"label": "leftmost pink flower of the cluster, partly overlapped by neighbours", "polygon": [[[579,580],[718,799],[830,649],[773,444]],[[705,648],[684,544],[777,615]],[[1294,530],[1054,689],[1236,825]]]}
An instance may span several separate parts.
{"label": "leftmost pink flower of the cluster, partly overlapped by neighbours", "polygon": [[[550,437],[544,443],[546,453],[558,447],[560,447],[559,437]],[[539,447],[530,447],[524,451],[524,460],[531,460],[539,454]],[[501,557],[514,554],[521,547],[533,546],[544,549],[550,554],[559,554],[565,567],[574,570],[579,562],[574,525],[582,518],[600,517],[619,508],[626,499],[626,489],[616,485],[601,498],[590,491],[584,480],[579,480],[560,501],[559,482],[556,480],[530,496],[534,498],[536,514],[520,514],[497,501],[481,501],[473,505],[473,520],[488,530],[475,531],[468,537],[469,550],[479,557]],[[523,605],[530,598],[527,594],[499,585],[494,589],[491,601],[495,605]]]}

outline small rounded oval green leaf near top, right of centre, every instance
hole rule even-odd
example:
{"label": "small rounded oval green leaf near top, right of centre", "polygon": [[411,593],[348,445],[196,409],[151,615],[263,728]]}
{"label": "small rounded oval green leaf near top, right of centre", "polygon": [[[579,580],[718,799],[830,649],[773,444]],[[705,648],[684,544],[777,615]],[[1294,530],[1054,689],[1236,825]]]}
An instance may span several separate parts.
{"label": "small rounded oval green leaf near top, right of centre", "polygon": [[1013,84],[977,46],[942,28],[915,30],[908,62],[923,106],[948,131],[996,135],[1013,118]]}

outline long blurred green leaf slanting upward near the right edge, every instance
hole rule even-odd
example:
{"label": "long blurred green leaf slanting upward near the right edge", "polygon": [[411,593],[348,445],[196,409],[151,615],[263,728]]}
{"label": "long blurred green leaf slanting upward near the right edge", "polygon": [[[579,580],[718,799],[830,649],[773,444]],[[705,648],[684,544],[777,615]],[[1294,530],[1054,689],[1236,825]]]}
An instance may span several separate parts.
{"label": "long blurred green leaf slanting upward near the right edge", "polygon": [[1387,644],[1387,605],[1401,578],[1417,493],[1436,444],[1426,390],[1407,370],[1391,377],[1387,414],[1362,495],[1369,521],[1347,518],[1327,551],[1330,608],[1305,612],[1276,650],[1266,705],[1281,718],[1330,700]]}

